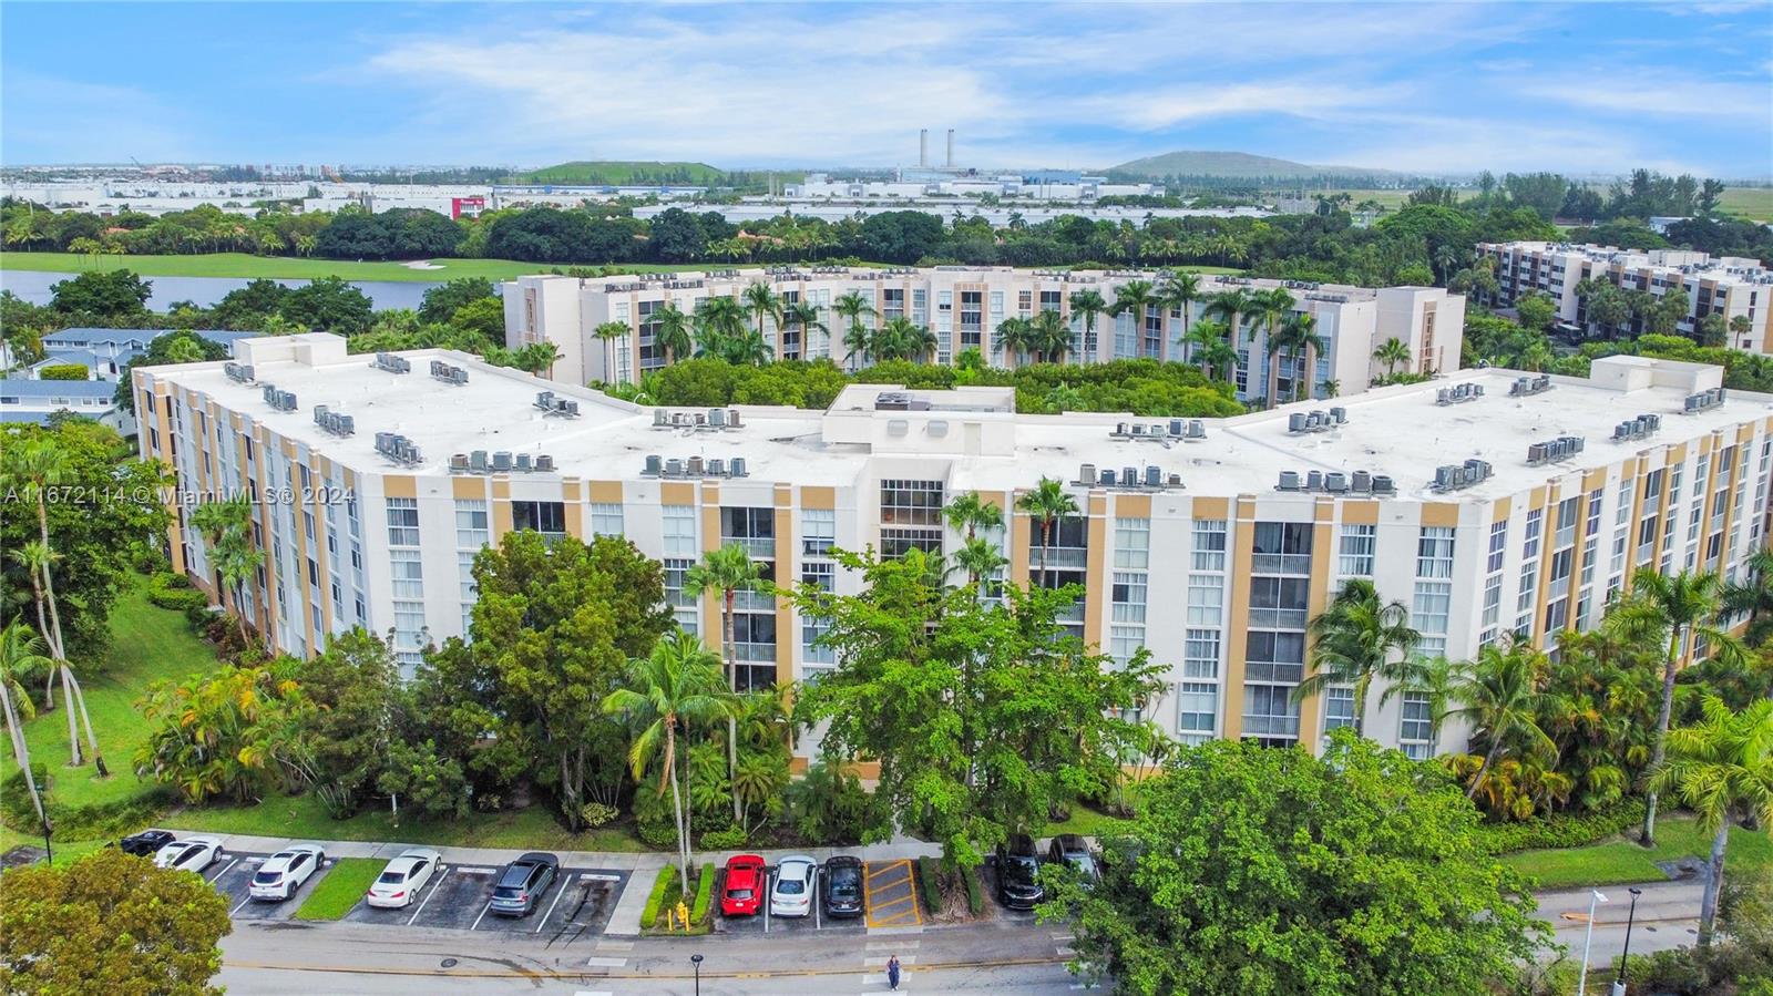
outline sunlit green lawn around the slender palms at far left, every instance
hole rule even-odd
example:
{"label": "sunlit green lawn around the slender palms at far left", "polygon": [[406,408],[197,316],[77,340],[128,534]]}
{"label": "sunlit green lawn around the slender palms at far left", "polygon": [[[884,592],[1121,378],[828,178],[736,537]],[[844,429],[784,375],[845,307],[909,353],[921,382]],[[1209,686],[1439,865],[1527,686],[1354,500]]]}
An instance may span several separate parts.
{"label": "sunlit green lawn around the slender palms at far left", "polygon": [[[158,679],[183,679],[216,666],[215,652],[191,634],[181,613],[147,601],[147,580],[142,576],[131,576],[129,587],[112,606],[110,622],[110,663],[101,673],[80,675],[110,778],[99,778],[90,759],[82,767],[67,767],[67,711],[60,686],[57,709],[39,712],[25,723],[32,760],[48,767],[50,801],[55,806],[117,803],[156,792],[154,783],[142,782],[133,771],[135,751],[147,741],[147,721],[135,702]],[[41,707],[43,686],[32,691]],[[82,732],[82,750],[83,744]]]}

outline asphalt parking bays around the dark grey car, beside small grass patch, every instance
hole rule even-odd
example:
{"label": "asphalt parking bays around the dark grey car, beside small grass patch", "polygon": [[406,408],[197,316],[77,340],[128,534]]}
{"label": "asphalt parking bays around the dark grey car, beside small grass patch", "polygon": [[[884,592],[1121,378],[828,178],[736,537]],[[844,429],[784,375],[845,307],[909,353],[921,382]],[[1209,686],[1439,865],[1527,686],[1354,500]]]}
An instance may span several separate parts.
{"label": "asphalt parking bays around the dark grey car, beside small grass patch", "polygon": [[385,927],[527,934],[548,945],[569,945],[587,934],[603,934],[628,883],[628,872],[560,868],[560,875],[528,916],[500,916],[489,911],[489,904],[502,870],[502,865],[443,865],[411,906],[376,909],[358,900],[344,920]]}

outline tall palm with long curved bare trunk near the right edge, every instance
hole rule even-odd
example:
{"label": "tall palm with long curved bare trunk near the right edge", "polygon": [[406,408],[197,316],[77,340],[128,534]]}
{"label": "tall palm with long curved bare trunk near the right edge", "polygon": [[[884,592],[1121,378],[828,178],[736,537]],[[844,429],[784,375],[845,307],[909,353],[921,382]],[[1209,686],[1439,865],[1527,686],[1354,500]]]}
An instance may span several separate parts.
{"label": "tall palm with long curved bare trunk near the right edge", "polygon": [[[1718,626],[1723,611],[1723,580],[1713,572],[1668,576],[1651,567],[1640,567],[1631,576],[1631,590],[1608,613],[1606,624],[1621,634],[1658,642],[1668,647],[1663,658],[1661,709],[1656,712],[1656,741],[1651,748],[1651,771],[1661,767],[1668,750],[1668,718],[1674,712],[1674,675],[1691,658],[1691,649],[1704,640],[1722,659],[1741,656],[1741,643]],[[1656,845],[1656,789],[1644,799],[1645,847]]]}

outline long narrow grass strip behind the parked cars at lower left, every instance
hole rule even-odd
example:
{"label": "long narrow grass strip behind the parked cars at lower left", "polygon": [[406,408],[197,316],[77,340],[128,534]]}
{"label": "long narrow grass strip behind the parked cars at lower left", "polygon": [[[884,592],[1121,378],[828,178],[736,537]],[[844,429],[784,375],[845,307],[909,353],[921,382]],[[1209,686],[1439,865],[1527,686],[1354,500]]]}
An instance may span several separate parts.
{"label": "long narrow grass strip behind the parked cars at lower left", "polygon": [[204,833],[250,833],[298,840],[371,840],[456,847],[521,847],[543,851],[647,851],[626,828],[567,833],[546,805],[502,813],[470,813],[461,821],[404,817],[399,826],[385,808],[337,821],[314,796],[268,796],[255,806],[186,806],[160,826]]}

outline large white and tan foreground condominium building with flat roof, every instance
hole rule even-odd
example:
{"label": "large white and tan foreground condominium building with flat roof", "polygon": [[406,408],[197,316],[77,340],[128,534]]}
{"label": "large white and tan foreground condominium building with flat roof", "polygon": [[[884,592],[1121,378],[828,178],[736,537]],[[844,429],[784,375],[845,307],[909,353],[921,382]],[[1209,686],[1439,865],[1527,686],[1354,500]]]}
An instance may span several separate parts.
{"label": "large white and tan foreground condominium building with flat roof", "polygon": [[[741,544],[775,581],[856,592],[833,548],[952,551],[940,509],[977,491],[1007,510],[988,537],[1005,576],[1044,564],[1046,583],[1080,585],[1066,624],[1165,663],[1145,716],[1191,743],[1316,746],[1353,721],[1351,689],[1291,696],[1307,622],[1349,578],[1411,608],[1422,652],[1459,659],[1596,626],[1636,567],[1741,576],[1773,461],[1773,397],[1636,356],[1589,379],[1463,370],[1197,422],[883,385],[826,411],[649,409],[450,351],[372,360],[316,333],[238,353],[135,372],[142,454],[188,494],[259,496],[266,564],[239,608],[280,650],[365,626],[413,665],[466,633],[475,553],[525,528],[633,541],[663,562],[677,622],[718,643],[720,603],[684,592],[704,553]],[[1080,510],[1044,539],[1014,510],[1043,479]],[[222,597],[186,512],[174,562]],[[835,666],[817,620],[766,594],[738,597],[734,633],[746,686]],[[1376,695],[1365,725],[1415,755],[1464,743],[1436,739],[1411,695]]]}

